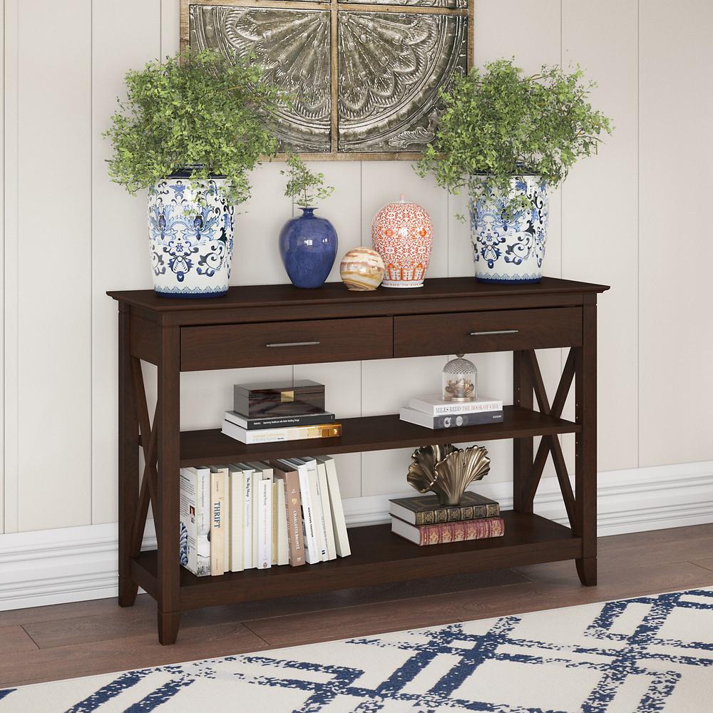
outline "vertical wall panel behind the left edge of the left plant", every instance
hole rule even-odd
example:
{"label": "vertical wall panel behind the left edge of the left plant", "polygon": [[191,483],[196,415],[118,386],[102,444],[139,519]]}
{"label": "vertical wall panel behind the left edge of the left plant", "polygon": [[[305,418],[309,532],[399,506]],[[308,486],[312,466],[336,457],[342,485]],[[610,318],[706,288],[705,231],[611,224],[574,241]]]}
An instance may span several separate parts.
{"label": "vertical wall panel behind the left edge of the left plant", "polygon": [[[178,3],[176,3],[178,4]],[[151,285],[146,194],[131,196],[111,183],[102,138],[124,95],[123,78],[160,56],[158,0],[94,0],[92,7],[92,430],[94,523],[116,521],[116,302],[106,290]],[[129,40],[130,38],[130,40]],[[153,380],[148,380],[152,384]],[[147,384],[147,385],[148,385]]]}

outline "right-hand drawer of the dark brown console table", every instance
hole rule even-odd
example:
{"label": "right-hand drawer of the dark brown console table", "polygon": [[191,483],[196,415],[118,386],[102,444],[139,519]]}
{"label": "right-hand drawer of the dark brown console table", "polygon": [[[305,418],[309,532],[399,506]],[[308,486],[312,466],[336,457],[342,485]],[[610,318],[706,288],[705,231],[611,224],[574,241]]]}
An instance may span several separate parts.
{"label": "right-hand drawer of the dark brown console table", "polygon": [[579,347],[579,307],[394,317],[394,356]]}

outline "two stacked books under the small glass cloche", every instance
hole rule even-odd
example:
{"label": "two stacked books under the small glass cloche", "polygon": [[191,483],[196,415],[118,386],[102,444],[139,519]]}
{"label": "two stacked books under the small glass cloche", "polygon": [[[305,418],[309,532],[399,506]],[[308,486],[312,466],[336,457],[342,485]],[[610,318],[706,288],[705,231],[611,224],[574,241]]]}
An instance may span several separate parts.
{"label": "two stacked books under the small glass cloche", "polygon": [[441,396],[421,396],[411,399],[401,409],[401,421],[426,429],[453,429],[459,426],[501,424],[503,401],[479,396],[473,401],[445,401]]}

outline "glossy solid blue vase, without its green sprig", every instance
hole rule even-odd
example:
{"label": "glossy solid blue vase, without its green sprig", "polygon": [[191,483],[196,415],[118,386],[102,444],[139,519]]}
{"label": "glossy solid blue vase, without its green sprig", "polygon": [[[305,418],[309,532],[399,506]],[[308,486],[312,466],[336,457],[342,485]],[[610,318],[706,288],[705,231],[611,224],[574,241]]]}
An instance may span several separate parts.
{"label": "glossy solid blue vase, without its green sprig", "polygon": [[302,208],[279,233],[279,254],[294,287],[322,287],[337,257],[337,231],[329,220]]}

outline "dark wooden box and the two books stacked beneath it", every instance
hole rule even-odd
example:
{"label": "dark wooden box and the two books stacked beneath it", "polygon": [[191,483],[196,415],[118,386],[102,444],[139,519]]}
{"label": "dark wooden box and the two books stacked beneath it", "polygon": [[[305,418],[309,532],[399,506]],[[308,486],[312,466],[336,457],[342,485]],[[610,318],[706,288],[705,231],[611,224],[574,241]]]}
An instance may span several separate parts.
{"label": "dark wooden box and the two books stacked beneath it", "polygon": [[316,381],[236,384],[233,408],[225,411],[222,432],[241,443],[342,435],[342,424],[324,410],[324,385]]}

